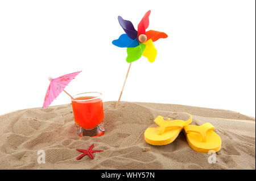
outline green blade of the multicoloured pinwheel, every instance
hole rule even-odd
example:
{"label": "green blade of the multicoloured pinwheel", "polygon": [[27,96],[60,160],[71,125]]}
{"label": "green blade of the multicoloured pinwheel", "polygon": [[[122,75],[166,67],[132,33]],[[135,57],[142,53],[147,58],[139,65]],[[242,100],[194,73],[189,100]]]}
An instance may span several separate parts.
{"label": "green blade of the multicoloured pinwheel", "polygon": [[139,43],[139,45],[137,47],[127,48],[126,61],[128,63],[131,63],[131,62],[134,62],[134,61],[138,60],[139,58],[141,58],[142,53],[145,48],[146,48],[146,45],[144,45],[142,43]]}

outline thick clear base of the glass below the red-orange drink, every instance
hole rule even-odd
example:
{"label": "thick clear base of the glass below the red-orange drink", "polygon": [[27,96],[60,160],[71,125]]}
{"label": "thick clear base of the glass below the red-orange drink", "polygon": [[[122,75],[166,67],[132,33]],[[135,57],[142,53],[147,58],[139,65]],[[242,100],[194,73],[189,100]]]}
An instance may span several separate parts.
{"label": "thick clear base of the glass below the red-orange drink", "polygon": [[97,136],[102,136],[105,133],[103,121],[102,121],[102,123],[98,124],[97,127],[92,128],[92,129],[84,129],[76,123],[75,123],[75,127],[76,127],[76,133],[80,137],[82,137],[82,136],[97,137]]}

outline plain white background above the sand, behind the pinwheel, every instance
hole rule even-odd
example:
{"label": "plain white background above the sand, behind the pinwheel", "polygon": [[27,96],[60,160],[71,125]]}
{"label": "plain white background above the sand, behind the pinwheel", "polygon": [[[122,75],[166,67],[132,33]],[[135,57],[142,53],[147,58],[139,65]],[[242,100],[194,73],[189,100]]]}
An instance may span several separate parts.
{"label": "plain white background above the sand, behind the pinwheel", "polygon": [[[131,65],[121,100],[255,116],[255,1],[0,1],[0,114],[42,107],[48,77],[83,70],[65,90],[117,100],[129,64],[112,45],[151,10],[154,63]],[[63,92],[51,104],[70,103]]]}

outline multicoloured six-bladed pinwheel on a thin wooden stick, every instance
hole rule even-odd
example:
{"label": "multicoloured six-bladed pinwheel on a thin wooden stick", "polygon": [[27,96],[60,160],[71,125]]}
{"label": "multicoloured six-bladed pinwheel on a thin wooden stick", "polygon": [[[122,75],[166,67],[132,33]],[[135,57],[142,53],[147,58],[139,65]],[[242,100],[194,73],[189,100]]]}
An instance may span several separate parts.
{"label": "multicoloured six-bladed pinwheel on a thin wooden stick", "polygon": [[[131,62],[138,60],[139,58],[141,58],[141,56],[147,57],[147,60],[149,62],[154,62],[157,51],[153,42],[160,38],[168,37],[168,35],[166,35],[166,33],[164,32],[154,30],[146,31],[149,25],[148,17],[150,15],[150,12],[150,10],[147,11],[146,14],[143,16],[141,22],[139,22],[138,31],[135,30],[133,23],[131,23],[129,20],[124,20],[121,16],[118,16],[119,24],[121,25],[125,33],[119,36],[117,40],[112,41],[112,44],[117,47],[127,48],[126,61],[130,63],[130,65],[126,74],[125,82],[129,74]],[[123,88],[125,87],[125,82],[123,83]],[[119,95],[119,99],[115,108],[118,107],[119,101],[122,96],[123,88],[121,94]]]}

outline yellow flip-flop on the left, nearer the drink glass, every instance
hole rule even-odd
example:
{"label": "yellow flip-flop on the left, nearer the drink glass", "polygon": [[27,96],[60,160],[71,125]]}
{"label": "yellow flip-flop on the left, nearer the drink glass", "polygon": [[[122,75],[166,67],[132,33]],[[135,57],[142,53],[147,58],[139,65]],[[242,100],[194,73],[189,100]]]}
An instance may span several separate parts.
{"label": "yellow flip-flop on the left, nearer the drink glass", "polygon": [[[187,115],[189,115],[187,113]],[[164,120],[163,116],[158,116],[154,120],[159,127],[147,128],[144,132],[144,140],[150,145],[167,145],[176,139],[184,125],[192,122],[192,116],[189,115],[187,121],[184,120]]]}

